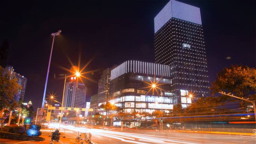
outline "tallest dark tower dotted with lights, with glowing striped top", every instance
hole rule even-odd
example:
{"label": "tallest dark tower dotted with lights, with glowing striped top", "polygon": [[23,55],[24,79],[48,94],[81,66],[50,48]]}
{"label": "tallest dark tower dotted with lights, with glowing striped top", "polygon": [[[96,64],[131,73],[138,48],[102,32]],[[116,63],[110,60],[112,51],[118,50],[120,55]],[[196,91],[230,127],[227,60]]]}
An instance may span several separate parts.
{"label": "tallest dark tower dotted with lights, with glowing striped top", "polygon": [[[174,104],[209,95],[200,9],[170,0],[155,19],[155,62],[170,65]],[[177,101],[175,101],[175,99]]]}

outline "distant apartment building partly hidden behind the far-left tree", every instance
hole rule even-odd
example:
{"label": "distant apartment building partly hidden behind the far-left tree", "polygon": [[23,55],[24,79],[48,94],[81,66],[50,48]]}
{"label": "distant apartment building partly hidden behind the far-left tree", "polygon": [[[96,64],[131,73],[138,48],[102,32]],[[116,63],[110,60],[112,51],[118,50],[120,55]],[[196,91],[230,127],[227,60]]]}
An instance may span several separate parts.
{"label": "distant apartment building partly hidden behind the far-left tree", "polygon": [[11,74],[10,79],[17,79],[18,84],[22,86],[21,89],[18,89],[18,94],[16,94],[15,99],[16,101],[19,101],[19,100],[23,101],[26,85],[27,85],[27,78],[25,78],[24,76],[21,76],[19,73],[16,73],[12,66],[6,66],[5,69],[7,72]]}

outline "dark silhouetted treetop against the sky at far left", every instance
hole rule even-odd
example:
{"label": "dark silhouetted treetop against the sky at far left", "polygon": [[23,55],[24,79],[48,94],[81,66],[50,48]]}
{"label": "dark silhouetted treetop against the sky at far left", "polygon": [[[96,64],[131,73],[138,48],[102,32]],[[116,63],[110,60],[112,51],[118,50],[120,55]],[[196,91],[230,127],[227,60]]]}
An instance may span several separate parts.
{"label": "dark silhouetted treetop against the sky at far left", "polygon": [[9,43],[5,40],[0,47],[0,65],[5,67],[8,62]]}

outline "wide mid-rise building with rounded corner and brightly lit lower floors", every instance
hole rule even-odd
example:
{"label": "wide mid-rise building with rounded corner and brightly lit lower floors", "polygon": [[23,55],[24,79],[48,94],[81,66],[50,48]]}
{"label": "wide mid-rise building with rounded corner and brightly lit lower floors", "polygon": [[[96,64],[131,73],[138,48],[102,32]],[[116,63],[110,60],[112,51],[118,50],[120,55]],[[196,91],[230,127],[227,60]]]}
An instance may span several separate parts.
{"label": "wide mid-rise building with rounded corner and brightly lit lower floors", "polygon": [[125,61],[111,71],[109,102],[123,108],[124,113],[152,113],[161,109],[168,113],[176,101],[171,92],[170,75],[168,65]]}

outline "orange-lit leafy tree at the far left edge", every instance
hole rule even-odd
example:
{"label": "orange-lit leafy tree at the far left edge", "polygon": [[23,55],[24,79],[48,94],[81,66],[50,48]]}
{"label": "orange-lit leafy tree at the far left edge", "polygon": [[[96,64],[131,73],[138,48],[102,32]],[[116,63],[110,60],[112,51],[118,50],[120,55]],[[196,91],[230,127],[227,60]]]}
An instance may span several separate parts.
{"label": "orange-lit leafy tree at the far left edge", "polygon": [[21,89],[21,86],[17,79],[10,79],[10,73],[0,66],[0,111],[15,110],[19,107],[19,102],[15,99],[18,89]]}

